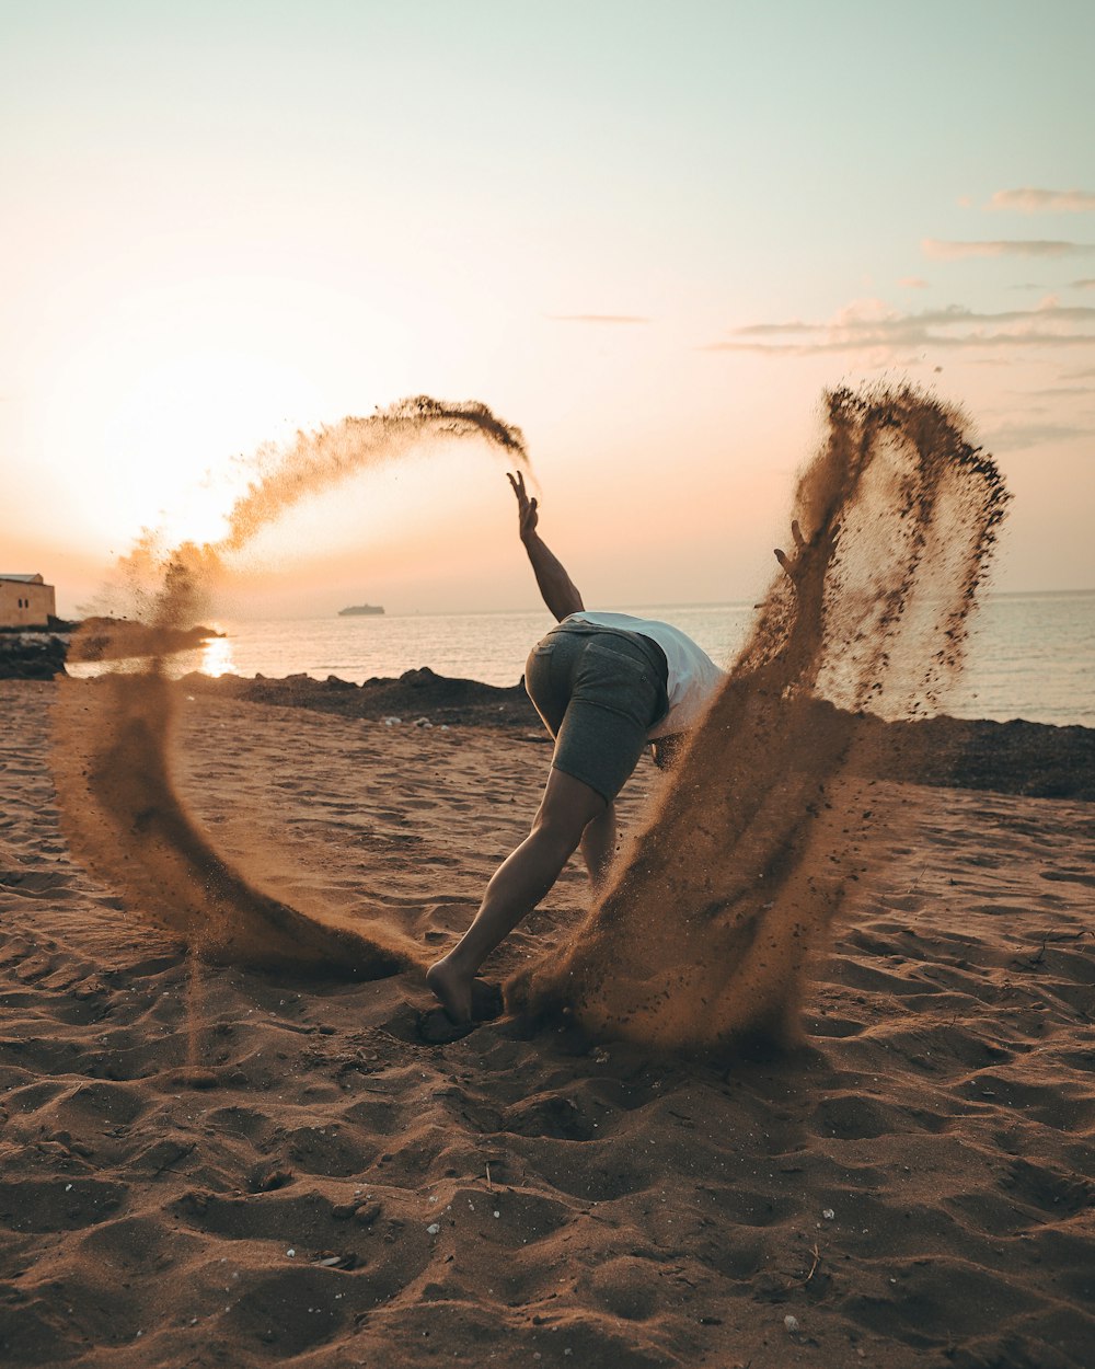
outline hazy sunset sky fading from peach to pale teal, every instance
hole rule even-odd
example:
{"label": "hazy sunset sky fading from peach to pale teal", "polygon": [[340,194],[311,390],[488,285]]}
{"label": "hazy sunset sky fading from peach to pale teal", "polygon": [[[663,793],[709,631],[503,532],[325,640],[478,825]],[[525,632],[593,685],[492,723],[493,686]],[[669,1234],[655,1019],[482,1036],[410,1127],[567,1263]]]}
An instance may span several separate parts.
{"label": "hazy sunset sky fading from peach to pale teal", "polygon": [[[0,571],[94,604],[271,444],[524,431],[589,606],[753,600],[828,386],[958,402],[994,587],[1095,587],[1088,0],[0,0]],[[505,464],[270,530],[233,611],[524,608]]]}

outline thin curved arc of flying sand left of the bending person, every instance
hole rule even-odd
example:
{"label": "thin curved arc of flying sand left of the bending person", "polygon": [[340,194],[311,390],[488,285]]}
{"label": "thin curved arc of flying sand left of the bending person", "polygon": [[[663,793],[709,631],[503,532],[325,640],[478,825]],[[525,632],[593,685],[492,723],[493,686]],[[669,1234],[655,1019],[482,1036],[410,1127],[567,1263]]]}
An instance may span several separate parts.
{"label": "thin curved arc of flying sand left of the bending person", "polygon": [[[270,470],[237,500],[223,539],[162,556],[146,537],[123,560],[133,613],[152,630],[152,654],[137,669],[62,680],[52,760],[74,852],[130,906],[205,960],[363,979],[422,960],[413,941],[379,919],[308,916],[256,888],[218,854],[171,775],[175,690],[156,654],[156,632],[166,642],[168,630],[200,622],[226,559],[300,501],[357,471],[453,439],[486,444],[528,468],[520,431],[486,405],[427,396],[298,434],[274,460],[263,453]],[[103,635],[101,624],[96,632]]]}

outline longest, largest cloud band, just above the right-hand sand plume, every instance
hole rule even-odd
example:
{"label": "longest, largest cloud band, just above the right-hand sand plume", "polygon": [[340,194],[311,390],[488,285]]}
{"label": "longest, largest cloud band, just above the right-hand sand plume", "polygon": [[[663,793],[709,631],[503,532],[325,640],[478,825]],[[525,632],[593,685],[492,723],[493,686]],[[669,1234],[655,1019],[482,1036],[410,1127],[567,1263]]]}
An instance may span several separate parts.
{"label": "longest, largest cloud band, just above the right-hand sand plume", "polygon": [[981,314],[962,305],[905,314],[881,300],[860,300],[823,323],[795,319],[735,329],[705,352],[768,352],[808,356],[820,352],[884,352],[929,348],[1095,346],[1095,307],[1043,300],[1031,309]]}

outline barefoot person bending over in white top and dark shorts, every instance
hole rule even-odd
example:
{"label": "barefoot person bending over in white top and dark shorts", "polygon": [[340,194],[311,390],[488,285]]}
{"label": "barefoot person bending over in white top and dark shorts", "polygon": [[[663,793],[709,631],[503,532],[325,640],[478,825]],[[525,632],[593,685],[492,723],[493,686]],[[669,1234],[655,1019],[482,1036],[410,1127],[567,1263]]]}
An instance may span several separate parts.
{"label": "barefoot person bending over in white top and dark shorts", "polygon": [[524,668],[528,697],[554,738],[548,783],[528,836],[498,867],[471,927],[426,972],[426,983],[457,1025],[472,1021],[479,967],[546,897],[582,849],[600,887],[616,852],[615,798],[650,743],[668,764],[704,715],[723,671],[676,627],[628,613],[587,612],[582,596],[537,531],[537,500],[524,476],[509,475],[520,538],[557,627]]}

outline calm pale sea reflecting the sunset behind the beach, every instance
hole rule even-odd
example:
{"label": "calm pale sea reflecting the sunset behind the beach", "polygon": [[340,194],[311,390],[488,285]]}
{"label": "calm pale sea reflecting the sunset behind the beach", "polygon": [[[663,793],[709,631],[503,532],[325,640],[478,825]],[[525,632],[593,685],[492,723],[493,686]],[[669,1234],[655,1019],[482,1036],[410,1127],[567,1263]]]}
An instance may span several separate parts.
{"label": "calm pale sea reflecting the sunset behind the beach", "polygon": [[[753,616],[746,604],[641,605],[621,612],[673,623],[720,664],[734,658]],[[229,635],[175,657],[179,675],[193,669],[275,678],[338,675],[361,683],[428,665],[439,675],[516,684],[530,646],[548,631],[552,617],[541,609],[218,626]],[[990,598],[970,642],[959,693],[947,712],[1095,727],[1095,591]]]}

